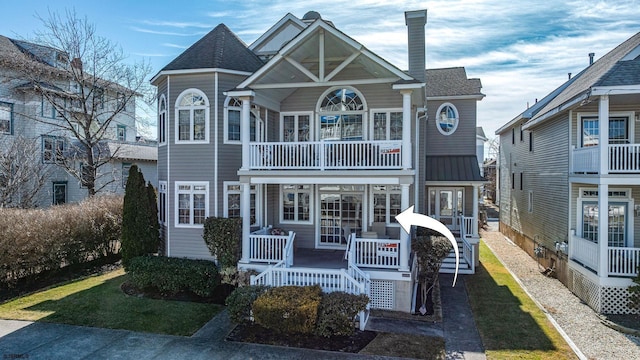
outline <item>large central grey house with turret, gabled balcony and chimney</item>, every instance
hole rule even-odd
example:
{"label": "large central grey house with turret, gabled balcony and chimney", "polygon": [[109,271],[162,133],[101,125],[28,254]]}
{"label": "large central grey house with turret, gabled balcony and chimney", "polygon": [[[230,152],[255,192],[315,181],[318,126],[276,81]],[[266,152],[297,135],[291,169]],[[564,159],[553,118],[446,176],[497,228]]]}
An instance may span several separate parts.
{"label": "large central grey house with turret, gabled balcony and chimney", "polygon": [[218,25],[165,66],[152,83],[167,255],[212,258],[205,218],[242,217],[238,267],[261,272],[254,283],[409,312],[416,263],[395,216],[415,205],[458,234],[472,272],[484,95],[464,68],[425,71],[426,10],[405,18],[408,72],[315,12],[250,46]]}

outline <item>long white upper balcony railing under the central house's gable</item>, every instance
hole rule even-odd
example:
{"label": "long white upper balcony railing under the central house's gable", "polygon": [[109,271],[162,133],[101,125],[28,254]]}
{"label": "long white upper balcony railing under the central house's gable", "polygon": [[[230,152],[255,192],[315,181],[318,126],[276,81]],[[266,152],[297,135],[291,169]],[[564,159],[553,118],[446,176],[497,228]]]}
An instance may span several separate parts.
{"label": "long white upper balcony railing under the central house's gable", "polygon": [[251,143],[251,169],[400,169],[402,141]]}

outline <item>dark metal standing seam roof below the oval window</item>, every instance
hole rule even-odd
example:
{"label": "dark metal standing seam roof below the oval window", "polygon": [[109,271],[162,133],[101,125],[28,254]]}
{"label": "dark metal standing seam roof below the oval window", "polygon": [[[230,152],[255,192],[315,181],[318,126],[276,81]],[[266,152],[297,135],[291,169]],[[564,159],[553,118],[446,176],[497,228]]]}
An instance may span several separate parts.
{"label": "dark metal standing seam roof below the oval window", "polygon": [[475,155],[441,155],[426,157],[426,181],[484,182]]}

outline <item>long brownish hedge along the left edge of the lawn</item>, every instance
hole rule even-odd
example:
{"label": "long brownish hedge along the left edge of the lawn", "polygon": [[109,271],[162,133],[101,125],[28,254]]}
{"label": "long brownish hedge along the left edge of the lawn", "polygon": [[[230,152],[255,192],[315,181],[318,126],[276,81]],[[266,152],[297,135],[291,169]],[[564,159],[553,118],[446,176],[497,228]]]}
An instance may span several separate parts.
{"label": "long brownish hedge along the left edge of the lawn", "polygon": [[0,209],[0,287],[45,271],[117,257],[121,230],[121,196],[95,196],[46,209]]}

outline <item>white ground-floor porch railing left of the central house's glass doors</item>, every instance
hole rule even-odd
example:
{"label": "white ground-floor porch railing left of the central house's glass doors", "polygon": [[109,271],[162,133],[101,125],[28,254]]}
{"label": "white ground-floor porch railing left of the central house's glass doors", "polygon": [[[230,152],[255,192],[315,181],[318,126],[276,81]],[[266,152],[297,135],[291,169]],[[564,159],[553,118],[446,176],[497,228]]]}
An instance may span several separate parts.
{"label": "white ground-floor porch railing left of the central house's glass doors", "polygon": [[287,259],[287,265],[293,263],[293,241],[296,234],[271,235],[271,227],[255,231],[249,235],[249,261],[274,264]]}

